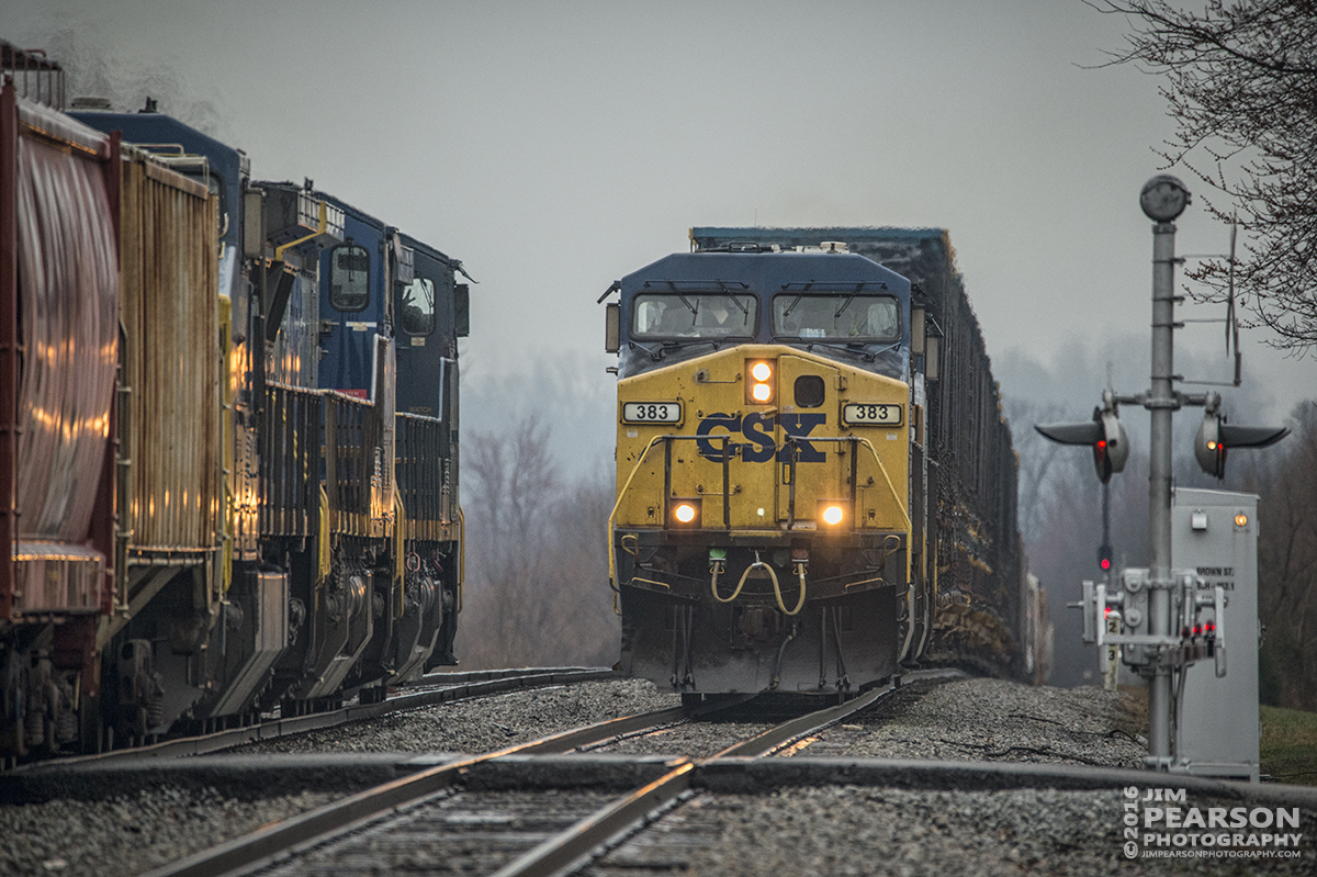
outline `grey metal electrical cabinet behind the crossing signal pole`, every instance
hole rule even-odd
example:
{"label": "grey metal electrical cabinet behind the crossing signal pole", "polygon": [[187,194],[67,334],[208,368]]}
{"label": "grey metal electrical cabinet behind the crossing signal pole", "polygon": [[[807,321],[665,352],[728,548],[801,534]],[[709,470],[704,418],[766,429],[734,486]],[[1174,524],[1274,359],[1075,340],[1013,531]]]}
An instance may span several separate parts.
{"label": "grey metal electrical cabinet behind the crossing signal pole", "polygon": [[1225,589],[1223,618],[1216,623],[1225,648],[1183,676],[1175,724],[1172,770],[1258,781],[1258,496],[1220,490],[1176,489],[1171,499],[1171,565],[1196,570],[1206,586]]}

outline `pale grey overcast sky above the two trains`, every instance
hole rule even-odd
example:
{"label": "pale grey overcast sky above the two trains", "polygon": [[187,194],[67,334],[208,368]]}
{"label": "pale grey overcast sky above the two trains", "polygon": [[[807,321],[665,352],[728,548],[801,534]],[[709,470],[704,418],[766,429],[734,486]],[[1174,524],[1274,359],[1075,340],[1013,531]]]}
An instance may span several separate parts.
{"label": "pale grey overcast sky above the two trains", "polygon": [[[691,225],[947,228],[998,362],[1147,337],[1138,192],[1171,128],[1159,79],[1098,68],[1127,22],[1080,0],[5,5],[0,36],[104,61],[137,105],[149,83],[253,176],[309,176],[462,259],[468,377],[577,362],[606,395],[595,299]],[[1180,253],[1227,246],[1201,200]],[[1245,391],[1283,417],[1317,365],[1260,338]],[[1214,356],[1221,327],[1177,345]]]}

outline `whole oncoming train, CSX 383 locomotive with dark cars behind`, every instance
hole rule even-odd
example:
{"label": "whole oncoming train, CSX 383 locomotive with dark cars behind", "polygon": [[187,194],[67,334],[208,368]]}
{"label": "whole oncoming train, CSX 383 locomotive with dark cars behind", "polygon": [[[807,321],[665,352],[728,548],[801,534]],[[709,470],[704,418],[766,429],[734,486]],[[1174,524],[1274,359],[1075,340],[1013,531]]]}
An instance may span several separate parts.
{"label": "whole oncoming train, CSX 383 locomotive with dark cars behind", "polygon": [[694,699],[1029,676],[1017,458],[947,233],[690,237],[601,299],[619,668]]}

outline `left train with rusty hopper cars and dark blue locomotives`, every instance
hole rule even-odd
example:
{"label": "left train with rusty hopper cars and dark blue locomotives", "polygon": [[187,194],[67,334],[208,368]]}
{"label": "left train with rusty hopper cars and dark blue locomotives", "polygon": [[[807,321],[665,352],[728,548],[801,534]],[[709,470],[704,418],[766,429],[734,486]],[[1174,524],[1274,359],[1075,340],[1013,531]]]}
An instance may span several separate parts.
{"label": "left train with rusty hopper cars and dark blue locomotives", "polygon": [[[5,46],[5,66],[58,67]],[[153,112],[0,95],[0,755],[453,664],[449,258]]]}

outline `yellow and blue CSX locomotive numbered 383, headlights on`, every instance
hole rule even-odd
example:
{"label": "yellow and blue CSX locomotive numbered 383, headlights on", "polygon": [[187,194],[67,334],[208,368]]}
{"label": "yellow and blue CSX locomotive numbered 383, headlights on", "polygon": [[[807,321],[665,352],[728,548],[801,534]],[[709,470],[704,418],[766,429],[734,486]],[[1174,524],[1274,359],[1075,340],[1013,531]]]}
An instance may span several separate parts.
{"label": "yellow and blue CSX locomotive numbered 383, headlights on", "polygon": [[910,283],[773,250],[669,255],[610,309],[622,669],[684,693],[846,691],[918,647]]}

